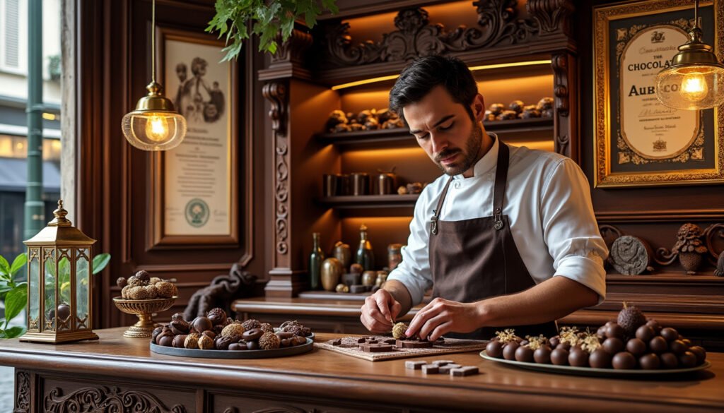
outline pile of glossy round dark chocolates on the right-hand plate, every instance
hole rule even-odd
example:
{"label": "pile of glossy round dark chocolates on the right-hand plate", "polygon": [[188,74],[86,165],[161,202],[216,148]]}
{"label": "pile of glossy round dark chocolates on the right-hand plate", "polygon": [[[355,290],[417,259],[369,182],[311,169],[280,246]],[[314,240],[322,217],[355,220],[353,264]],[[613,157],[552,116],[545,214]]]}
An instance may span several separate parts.
{"label": "pile of glossy round dark chocolates on the right-hand plate", "polygon": [[559,335],[521,339],[515,331],[497,332],[485,349],[489,357],[574,367],[615,370],[681,369],[702,365],[707,352],[694,346],[674,328],[647,320],[635,306],[628,306],[596,333],[561,328]]}

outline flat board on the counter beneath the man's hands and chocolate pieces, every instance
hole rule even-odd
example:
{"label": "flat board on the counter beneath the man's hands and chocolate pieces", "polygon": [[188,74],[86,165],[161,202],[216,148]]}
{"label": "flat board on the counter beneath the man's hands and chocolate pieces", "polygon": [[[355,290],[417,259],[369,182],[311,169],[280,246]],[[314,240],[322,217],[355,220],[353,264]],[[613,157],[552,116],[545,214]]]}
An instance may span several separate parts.
{"label": "flat board on the counter beneath the man's hands and chocolate pieces", "polygon": [[[314,343],[314,346],[319,349],[330,350],[332,352],[345,354],[346,356],[365,359],[370,362],[379,362],[382,360],[406,359],[437,354],[480,352],[485,349],[485,345],[487,344],[487,341],[481,340],[445,339],[442,343],[434,344],[432,348],[428,349],[397,349],[395,347],[392,352],[366,353],[360,349],[360,343],[358,343],[359,338],[359,336],[342,337],[339,339],[341,341],[339,346],[332,345],[332,340],[318,341]],[[389,336],[370,336],[370,338],[378,339],[378,341],[390,339]]]}

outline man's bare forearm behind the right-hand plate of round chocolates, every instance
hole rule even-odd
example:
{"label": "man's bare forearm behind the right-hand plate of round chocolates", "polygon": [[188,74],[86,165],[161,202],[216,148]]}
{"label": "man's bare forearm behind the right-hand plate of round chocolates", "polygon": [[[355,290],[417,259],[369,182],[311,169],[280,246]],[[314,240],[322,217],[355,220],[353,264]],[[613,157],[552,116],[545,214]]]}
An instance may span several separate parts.
{"label": "man's bare forearm behind the right-hand plate of round chocolates", "polygon": [[570,278],[557,276],[531,289],[477,304],[481,327],[506,327],[545,323],[565,317],[582,307],[596,305],[598,294]]}

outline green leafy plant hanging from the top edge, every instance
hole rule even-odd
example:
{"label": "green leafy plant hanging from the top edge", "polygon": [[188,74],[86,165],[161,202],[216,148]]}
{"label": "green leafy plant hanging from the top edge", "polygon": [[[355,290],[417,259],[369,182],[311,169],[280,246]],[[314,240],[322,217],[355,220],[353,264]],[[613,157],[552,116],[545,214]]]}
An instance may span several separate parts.
{"label": "green leafy plant hanging from the top edge", "polygon": [[219,32],[219,38],[226,35],[226,56],[222,61],[237,58],[243,40],[249,38],[248,22],[251,33],[259,36],[259,51],[274,54],[277,34],[282,34],[282,42],[287,41],[295,20],[313,27],[321,9],[332,14],[339,11],[335,0],[216,0],[216,15],[206,31]]}

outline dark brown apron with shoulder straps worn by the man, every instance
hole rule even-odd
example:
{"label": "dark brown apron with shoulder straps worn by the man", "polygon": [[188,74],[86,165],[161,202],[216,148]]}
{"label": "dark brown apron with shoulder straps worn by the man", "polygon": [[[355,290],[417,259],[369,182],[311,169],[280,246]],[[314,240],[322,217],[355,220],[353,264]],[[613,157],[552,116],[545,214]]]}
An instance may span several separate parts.
{"label": "dark brown apron with shoulder straps worn by the man", "polygon": [[[499,142],[493,215],[463,221],[440,221],[442,202],[452,176],[433,210],[430,226],[429,257],[432,270],[433,297],[456,302],[513,294],[531,288],[535,281],[518,253],[510,233],[510,220],[502,215],[505,183],[508,181],[509,150]],[[539,325],[484,327],[472,333],[447,333],[446,337],[489,340],[495,331],[515,328],[518,336],[555,336],[555,322]]]}

